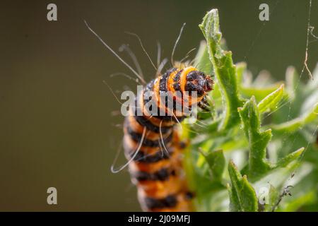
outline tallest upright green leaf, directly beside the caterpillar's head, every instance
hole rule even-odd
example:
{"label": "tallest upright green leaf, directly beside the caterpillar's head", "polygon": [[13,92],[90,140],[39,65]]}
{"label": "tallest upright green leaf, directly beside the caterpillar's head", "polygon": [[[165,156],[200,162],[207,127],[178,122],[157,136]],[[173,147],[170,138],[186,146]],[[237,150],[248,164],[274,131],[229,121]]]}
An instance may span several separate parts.
{"label": "tallest upright green leaf, directly beside the caterpillar's head", "polygon": [[221,48],[221,37],[218,10],[212,9],[199,25],[208,44],[208,54],[216,74],[216,83],[220,87],[225,105],[223,120],[219,130],[231,128],[239,123],[237,107],[242,106],[242,100],[237,95],[236,69],[232,63],[232,52]]}

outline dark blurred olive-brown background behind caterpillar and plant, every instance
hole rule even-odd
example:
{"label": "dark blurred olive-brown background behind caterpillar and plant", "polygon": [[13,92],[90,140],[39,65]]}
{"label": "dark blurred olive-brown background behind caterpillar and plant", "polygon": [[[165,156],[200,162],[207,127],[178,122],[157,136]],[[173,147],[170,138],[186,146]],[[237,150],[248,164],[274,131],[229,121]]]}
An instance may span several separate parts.
{"label": "dark blurred olive-brown background behind caterpillar and plant", "polygon": [[[49,3],[57,4],[57,21],[47,20]],[[259,21],[261,3],[269,4],[269,22]],[[110,172],[123,118],[114,115],[121,106],[102,81],[118,96],[136,83],[110,78],[129,71],[84,19],[114,49],[130,44],[150,80],[151,64],[136,38],[124,32],[138,34],[153,59],[157,40],[163,57],[170,57],[185,22],[175,54],[181,59],[203,39],[198,24],[206,11],[218,8],[234,61],[247,61],[254,74],[267,69],[280,80],[287,66],[302,69],[308,7],[300,0],[1,1],[0,210],[140,210],[126,170]],[[316,0],[311,24],[318,26]],[[318,42],[312,42],[311,70],[317,59]],[[124,162],[122,156],[118,164]],[[57,206],[47,205],[50,186],[57,188]]]}

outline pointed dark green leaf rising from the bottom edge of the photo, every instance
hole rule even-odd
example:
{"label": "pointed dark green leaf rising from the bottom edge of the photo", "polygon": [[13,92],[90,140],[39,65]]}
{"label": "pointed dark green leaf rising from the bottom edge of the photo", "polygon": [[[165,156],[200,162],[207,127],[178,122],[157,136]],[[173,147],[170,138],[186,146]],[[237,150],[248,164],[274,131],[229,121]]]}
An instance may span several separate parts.
{"label": "pointed dark green leaf rising from the bottom edge of the photo", "polygon": [[228,184],[230,195],[230,211],[255,212],[258,210],[257,195],[247,177],[240,174],[234,162],[228,165],[231,186]]}

